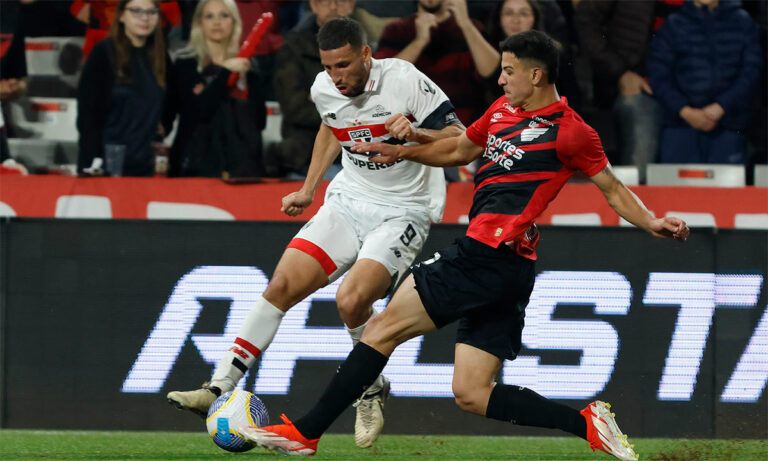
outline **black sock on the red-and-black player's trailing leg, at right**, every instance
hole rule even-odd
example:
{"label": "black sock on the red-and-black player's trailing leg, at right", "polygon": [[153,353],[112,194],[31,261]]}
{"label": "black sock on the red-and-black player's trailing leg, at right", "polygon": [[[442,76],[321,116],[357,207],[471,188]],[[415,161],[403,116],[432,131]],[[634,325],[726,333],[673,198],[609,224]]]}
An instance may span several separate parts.
{"label": "black sock on the red-and-black player's trailing leg, at right", "polygon": [[587,439],[587,421],[578,410],[545,399],[525,387],[494,386],[485,416],[520,426],[562,429]]}

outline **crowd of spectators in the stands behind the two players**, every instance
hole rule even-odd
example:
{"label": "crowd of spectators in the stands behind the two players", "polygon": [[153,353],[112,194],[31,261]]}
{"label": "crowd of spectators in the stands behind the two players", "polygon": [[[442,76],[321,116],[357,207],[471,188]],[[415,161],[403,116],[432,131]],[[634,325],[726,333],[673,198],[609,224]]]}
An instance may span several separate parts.
{"label": "crowd of spectators in the stands behind the two players", "polygon": [[[649,163],[766,163],[766,8],[738,0],[4,0],[0,160],[13,157],[7,138],[25,136],[10,105],[39,87],[28,85],[25,37],[84,37],[81,53],[60,56],[79,74],[78,174],[301,178],[321,120],[309,94],[323,70],[315,37],[330,19],[352,17],[375,58],[414,63],[466,126],[502,94],[499,41],[536,29],[561,47],[560,94],[597,129],[611,163],[637,166],[641,181]],[[252,55],[240,56],[267,12],[274,21]],[[268,105],[282,115],[279,141],[262,136]],[[471,165],[445,173],[473,176]]]}

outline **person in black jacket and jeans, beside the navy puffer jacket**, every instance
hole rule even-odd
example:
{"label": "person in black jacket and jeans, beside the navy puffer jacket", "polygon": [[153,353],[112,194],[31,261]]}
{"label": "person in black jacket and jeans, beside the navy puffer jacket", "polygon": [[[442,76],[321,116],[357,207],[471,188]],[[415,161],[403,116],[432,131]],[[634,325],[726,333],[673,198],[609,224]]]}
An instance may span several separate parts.
{"label": "person in black jacket and jeans, beside the navy puffer jacket", "polygon": [[641,181],[656,160],[661,108],[647,82],[654,0],[582,0],[574,10],[581,49],[593,70],[594,103],[611,109],[618,129],[615,164],[635,165]]}

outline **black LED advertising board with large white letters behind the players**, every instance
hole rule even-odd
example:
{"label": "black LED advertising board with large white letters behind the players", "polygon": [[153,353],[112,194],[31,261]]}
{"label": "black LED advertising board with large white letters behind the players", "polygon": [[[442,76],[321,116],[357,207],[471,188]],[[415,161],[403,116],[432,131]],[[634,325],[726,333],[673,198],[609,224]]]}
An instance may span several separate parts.
{"label": "black LED advertising board with large white letters behind the players", "polygon": [[[202,431],[164,396],[210,376],[300,225],[0,219],[0,426]],[[464,230],[434,226],[422,255]],[[700,228],[680,244],[543,226],[539,257],[524,347],[500,382],[575,408],[610,401],[637,437],[768,436],[768,232]],[[303,414],[351,348],[336,286],[289,311],[242,382],[273,420]],[[454,335],[393,355],[387,433],[557,435],[462,413]]]}

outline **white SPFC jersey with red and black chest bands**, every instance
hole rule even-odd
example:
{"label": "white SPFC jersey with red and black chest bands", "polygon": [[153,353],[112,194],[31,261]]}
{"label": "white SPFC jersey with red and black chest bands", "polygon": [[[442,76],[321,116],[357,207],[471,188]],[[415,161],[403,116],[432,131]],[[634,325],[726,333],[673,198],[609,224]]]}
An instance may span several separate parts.
{"label": "white SPFC jersey with red and black chest bands", "polygon": [[[402,141],[384,126],[401,113],[417,127],[441,129],[460,123],[448,96],[413,64],[400,59],[371,59],[371,72],[362,94],[339,93],[327,72],[312,85],[317,111],[342,146],[343,169],[331,181],[326,194],[350,194],[372,203],[428,210],[438,222],[445,206],[445,179],[441,168],[400,160],[374,163],[368,155],[353,153],[355,142]],[[426,122],[426,124],[425,124]]]}

